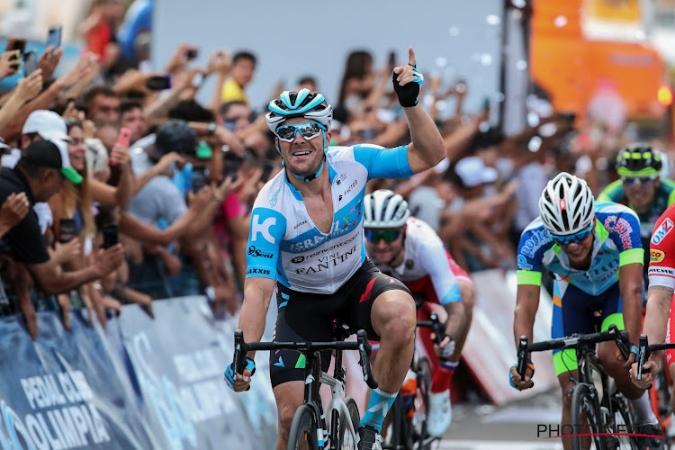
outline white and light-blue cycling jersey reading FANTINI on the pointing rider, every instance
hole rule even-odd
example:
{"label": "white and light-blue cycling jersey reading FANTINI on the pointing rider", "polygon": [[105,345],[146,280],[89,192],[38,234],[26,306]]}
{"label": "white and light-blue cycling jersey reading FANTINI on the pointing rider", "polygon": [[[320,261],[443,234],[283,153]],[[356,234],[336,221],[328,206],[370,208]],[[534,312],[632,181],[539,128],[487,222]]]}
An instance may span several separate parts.
{"label": "white and light-blue cycling jersey reading FANTINI on the pointing rider", "polygon": [[412,175],[408,146],[331,147],[327,161],[333,201],[329,233],[316,228],[300,191],[282,170],[253,205],[247,278],[273,278],[299,292],[335,293],[363,265],[365,184],[371,178]]}

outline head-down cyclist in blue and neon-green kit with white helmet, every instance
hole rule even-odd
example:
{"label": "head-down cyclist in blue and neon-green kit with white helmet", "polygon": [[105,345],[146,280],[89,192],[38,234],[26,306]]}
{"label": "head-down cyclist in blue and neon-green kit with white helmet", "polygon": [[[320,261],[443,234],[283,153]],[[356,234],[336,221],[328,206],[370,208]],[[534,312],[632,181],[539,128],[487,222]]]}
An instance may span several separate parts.
{"label": "head-down cyclist in blue and neon-green kit with white helmet", "polygon": [[[634,211],[613,202],[595,202],[585,181],[561,173],[549,181],[539,199],[540,217],[523,231],[518,245],[518,293],[513,331],[532,342],[532,328],[539,306],[542,268],[555,275],[552,338],[595,332],[595,311],[601,310],[601,330],[616,324],[626,329],[630,342],[639,338],[643,292],[644,248],[640,222]],[[637,346],[624,362],[617,346],[599,344],[598,356],[617,389],[633,404],[637,432],[659,434],[647,392],[631,383],[628,370]],[[554,350],[555,373],[563,392],[562,427],[570,425],[572,379],[576,378],[573,350]],[[515,365],[509,383],[518,390],[534,385],[535,366],[528,361],[525,379]],[[581,424],[572,424],[579,427]],[[569,428],[569,427],[568,427]],[[564,429],[564,428],[561,428]],[[578,429],[578,428],[576,428]],[[563,446],[571,448],[569,437]]]}

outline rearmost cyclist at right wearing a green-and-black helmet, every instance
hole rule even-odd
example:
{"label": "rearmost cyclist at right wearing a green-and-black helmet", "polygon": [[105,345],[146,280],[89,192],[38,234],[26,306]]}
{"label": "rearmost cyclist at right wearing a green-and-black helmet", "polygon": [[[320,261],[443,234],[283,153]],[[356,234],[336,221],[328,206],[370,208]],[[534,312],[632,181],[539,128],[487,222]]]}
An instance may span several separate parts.
{"label": "rearmost cyclist at right wearing a green-and-black helmet", "polygon": [[649,239],[663,211],[675,202],[675,182],[661,179],[663,163],[658,150],[636,142],[619,152],[617,173],[621,179],[609,184],[598,200],[625,204],[640,219],[640,238],[644,252],[644,283],[649,267]]}

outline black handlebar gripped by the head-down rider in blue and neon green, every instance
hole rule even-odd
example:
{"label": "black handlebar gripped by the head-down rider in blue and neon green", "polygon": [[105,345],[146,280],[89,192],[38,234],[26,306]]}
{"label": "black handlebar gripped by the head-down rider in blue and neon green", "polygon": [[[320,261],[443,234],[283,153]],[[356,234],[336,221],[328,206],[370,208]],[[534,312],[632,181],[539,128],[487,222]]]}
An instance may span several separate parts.
{"label": "black handlebar gripped by the head-down rider in blue and neon green", "polygon": [[557,348],[579,348],[584,345],[597,344],[613,340],[621,352],[628,359],[630,351],[628,350],[628,332],[625,329],[617,329],[616,325],[610,325],[607,331],[589,334],[573,334],[566,338],[550,339],[541,342],[527,344],[527,336],[521,336],[518,343],[518,374],[520,378],[525,378],[527,370],[527,353],[543,352],[546,350],[555,350]]}

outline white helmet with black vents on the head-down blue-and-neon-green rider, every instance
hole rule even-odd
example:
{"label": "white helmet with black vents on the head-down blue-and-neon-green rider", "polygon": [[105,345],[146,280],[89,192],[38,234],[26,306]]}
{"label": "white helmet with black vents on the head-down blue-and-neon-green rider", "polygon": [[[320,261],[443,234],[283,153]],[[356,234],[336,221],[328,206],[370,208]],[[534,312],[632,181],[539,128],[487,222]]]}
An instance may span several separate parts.
{"label": "white helmet with black vents on the head-down blue-and-neon-green rider", "polygon": [[595,218],[593,193],[584,180],[561,172],[546,184],[539,214],[549,233],[569,236],[588,229]]}

